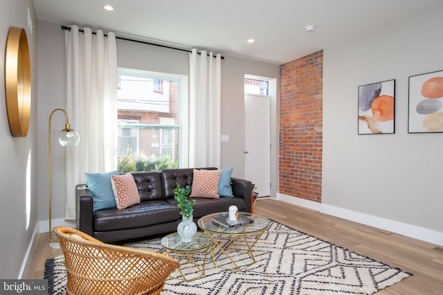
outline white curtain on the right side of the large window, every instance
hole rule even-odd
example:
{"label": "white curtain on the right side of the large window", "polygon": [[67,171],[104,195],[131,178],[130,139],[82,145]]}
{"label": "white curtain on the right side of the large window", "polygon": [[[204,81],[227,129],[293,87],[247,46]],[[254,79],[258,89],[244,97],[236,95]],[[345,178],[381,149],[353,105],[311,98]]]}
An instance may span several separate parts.
{"label": "white curtain on the right side of the large window", "polygon": [[220,168],[221,55],[190,54],[189,166]]}

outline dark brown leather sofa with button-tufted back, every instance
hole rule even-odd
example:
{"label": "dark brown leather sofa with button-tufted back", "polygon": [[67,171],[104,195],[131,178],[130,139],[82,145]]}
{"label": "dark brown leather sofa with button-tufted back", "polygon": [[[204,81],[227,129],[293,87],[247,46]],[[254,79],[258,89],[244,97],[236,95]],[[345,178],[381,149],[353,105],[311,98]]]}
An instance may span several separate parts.
{"label": "dark brown leather sofa with button-tufted back", "polygon": [[[174,188],[177,184],[192,188],[192,171],[193,169],[166,169],[161,172],[132,173],[141,202],[126,209],[93,211],[91,192],[84,189],[85,184],[78,184],[75,187],[77,228],[102,242],[117,242],[177,231],[181,215],[174,198]],[[253,184],[239,178],[231,178],[231,184],[233,197],[195,199],[194,222],[209,213],[228,211],[230,205],[237,206],[239,211],[251,212]]]}

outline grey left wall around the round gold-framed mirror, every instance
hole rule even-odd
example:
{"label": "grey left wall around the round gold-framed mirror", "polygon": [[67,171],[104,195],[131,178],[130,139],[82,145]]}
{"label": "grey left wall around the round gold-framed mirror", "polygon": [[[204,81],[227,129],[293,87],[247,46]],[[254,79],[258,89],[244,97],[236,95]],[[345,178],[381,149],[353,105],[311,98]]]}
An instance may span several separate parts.
{"label": "grey left wall around the round gold-framed mirror", "polygon": [[[0,278],[17,278],[37,222],[37,34],[28,30],[28,8],[35,26],[32,0],[0,1]],[[12,137],[5,97],[5,53],[9,28],[26,28],[31,66],[31,117],[28,135]],[[28,161],[29,159],[29,161]],[[29,173],[26,173],[28,169]],[[28,175],[28,177],[27,177]],[[26,180],[29,186],[27,188]],[[26,212],[26,190],[30,210]],[[29,221],[27,221],[29,220]]]}

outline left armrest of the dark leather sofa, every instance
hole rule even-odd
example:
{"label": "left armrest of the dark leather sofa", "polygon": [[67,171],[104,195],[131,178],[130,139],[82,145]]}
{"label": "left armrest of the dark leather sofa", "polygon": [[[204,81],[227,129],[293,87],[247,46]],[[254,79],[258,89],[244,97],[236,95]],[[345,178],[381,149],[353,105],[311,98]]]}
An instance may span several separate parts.
{"label": "left armrest of the dark leather sofa", "polygon": [[84,234],[93,236],[92,194],[86,184],[77,184],[75,186],[75,202],[77,229],[83,231]]}

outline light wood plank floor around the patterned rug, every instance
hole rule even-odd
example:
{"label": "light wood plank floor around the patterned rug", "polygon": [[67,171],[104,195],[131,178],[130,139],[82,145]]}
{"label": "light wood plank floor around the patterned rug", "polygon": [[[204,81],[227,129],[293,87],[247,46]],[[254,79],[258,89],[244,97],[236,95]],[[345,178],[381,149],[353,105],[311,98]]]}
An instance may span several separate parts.
{"label": "light wood plank floor around the patterned rug", "polygon": [[[254,212],[414,275],[377,294],[443,294],[443,247],[269,198]],[[43,278],[46,259],[62,255],[49,248],[47,233],[37,239],[26,278]]]}

